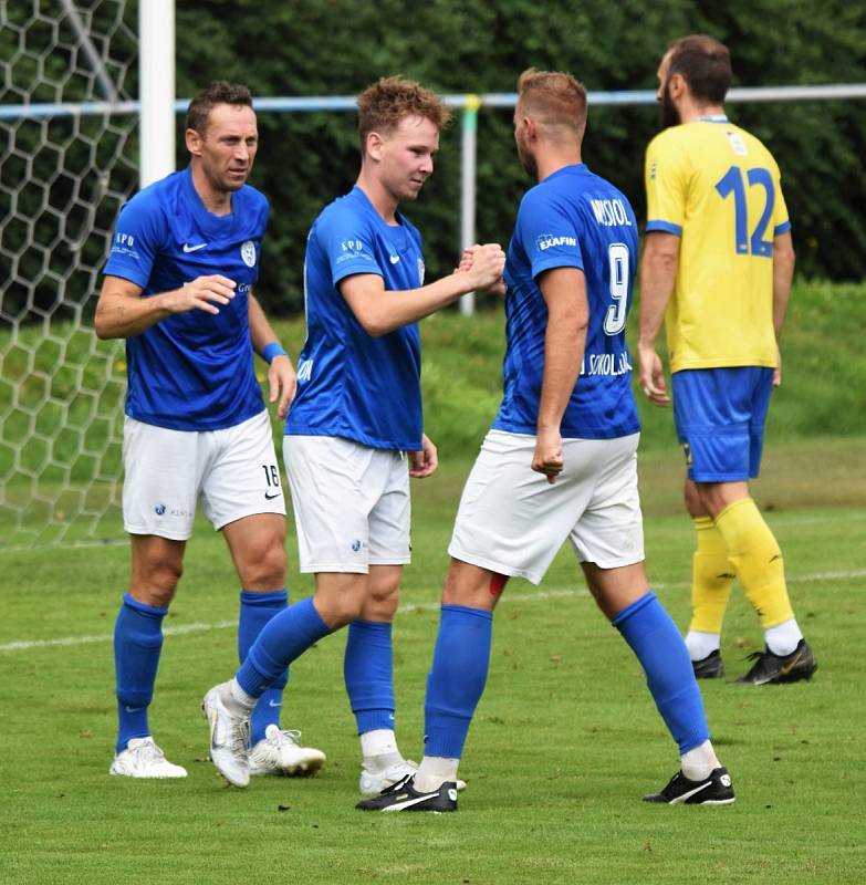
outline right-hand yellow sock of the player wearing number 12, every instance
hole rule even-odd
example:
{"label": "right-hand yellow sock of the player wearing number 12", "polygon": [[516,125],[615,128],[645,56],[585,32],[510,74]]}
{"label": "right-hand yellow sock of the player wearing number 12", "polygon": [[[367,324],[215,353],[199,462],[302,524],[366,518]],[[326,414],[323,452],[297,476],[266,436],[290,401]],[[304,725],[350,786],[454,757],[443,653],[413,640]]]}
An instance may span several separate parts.
{"label": "right-hand yellow sock of the player wearing number 12", "polygon": [[782,551],[754,501],[743,498],[726,507],[716,518],[716,528],[764,629],[793,621]]}

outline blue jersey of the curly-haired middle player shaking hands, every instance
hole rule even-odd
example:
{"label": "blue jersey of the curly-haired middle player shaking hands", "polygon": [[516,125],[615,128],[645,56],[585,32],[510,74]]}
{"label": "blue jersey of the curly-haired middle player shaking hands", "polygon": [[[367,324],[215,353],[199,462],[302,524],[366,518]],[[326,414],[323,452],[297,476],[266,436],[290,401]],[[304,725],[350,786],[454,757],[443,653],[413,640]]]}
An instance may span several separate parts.
{"label": "blue jersey of the curly-haired middle player shaking hands", "polygon": [[377,449],[421,448],[421,344],[416,323],[373,337],[337,284],[375,273],[383,298],[424,285],[421,238],[398,215],[385,222],[359,187],[313,223],[304,261],[306,342],[286,434],[338,436]]}

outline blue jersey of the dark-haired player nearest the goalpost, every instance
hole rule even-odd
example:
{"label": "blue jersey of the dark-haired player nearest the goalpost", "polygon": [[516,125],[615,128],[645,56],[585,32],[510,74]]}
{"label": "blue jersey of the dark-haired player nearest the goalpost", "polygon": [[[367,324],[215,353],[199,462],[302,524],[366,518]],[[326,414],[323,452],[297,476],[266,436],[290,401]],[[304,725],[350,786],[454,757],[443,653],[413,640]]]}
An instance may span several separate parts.
{"label": "blue jersey of the dark-haired player nearest the goalpost", "polygon": [[189,169],[150,185],[124,206],[106,275],[134,282],[145,296],[212,273],[237,284],[218,315],[175,314],[126,340],[129,417],[175,430],[218,430],[264,408],[248,308],[268,212],[264,196],[244,186],[232,194],[229,215],[212,215]]}

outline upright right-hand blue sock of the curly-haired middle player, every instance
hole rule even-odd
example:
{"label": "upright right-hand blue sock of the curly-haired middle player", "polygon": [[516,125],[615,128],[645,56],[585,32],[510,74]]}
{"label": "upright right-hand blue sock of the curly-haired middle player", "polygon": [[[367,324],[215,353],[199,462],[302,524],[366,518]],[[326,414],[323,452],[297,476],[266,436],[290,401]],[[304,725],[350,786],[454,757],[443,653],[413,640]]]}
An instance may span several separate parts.
{"label": "upright right-hand blue sock of the curly-haired middle player", "polygon": [[353,621],[348,625],[343,676],[358,735],[394,730],[394,654],[390,624]]}

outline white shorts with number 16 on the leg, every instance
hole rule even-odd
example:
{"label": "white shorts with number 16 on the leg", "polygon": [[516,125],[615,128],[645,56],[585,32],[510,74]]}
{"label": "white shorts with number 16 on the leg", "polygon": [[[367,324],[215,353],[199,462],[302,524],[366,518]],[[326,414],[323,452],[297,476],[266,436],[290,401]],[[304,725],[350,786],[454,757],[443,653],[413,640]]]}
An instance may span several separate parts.
{"label": "white shorts with number 16 on the leg", "polygon": [[192,535],[196,502],[215,529],[255,513],[285,516],[267,412],[223,430],[170,430],[126,417],[124,528],[173,541]]}

